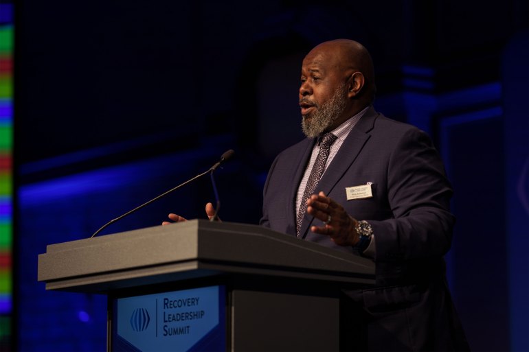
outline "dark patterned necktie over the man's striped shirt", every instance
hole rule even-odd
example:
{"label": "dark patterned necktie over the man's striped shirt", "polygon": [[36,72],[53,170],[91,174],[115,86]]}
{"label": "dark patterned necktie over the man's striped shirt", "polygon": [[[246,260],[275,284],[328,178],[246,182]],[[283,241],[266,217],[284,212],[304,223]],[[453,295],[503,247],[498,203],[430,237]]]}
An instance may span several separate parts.
{"label": "dark patterned necktie over the man's striped shirt", "polygon": [[335,141],[336,136],[332,133],[326,133],[322,136],[321,142],[319,143],[319,153],[314,162],[313,169],[311,170],[311,175],[308,176],[307,184],[305,191],[303,192],[303,197],[301,198],[300,211],[297,213],[296,219],[296,235],[300,237],[300,228],[303,221],[305,211],[306,211],[306,200],[312,195],[316,189],[316,185],[319,182],[319,178],[322,177],[322,174],[325,171],[325,163],[329,156],[330,145]]}

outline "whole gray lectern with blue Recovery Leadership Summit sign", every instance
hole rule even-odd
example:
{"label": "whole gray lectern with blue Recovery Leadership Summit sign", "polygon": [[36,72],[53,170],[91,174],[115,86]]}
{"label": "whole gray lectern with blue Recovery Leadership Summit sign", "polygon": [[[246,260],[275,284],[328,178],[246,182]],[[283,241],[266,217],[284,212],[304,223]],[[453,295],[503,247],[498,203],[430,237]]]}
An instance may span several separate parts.
{"label": "whole gray lectern with blue Recovery Leadership Summit sign", "polygon": [[51,244],[46,290],[108,296],[108,351],[343,351],[374,263],[262,226],[190,220]]}

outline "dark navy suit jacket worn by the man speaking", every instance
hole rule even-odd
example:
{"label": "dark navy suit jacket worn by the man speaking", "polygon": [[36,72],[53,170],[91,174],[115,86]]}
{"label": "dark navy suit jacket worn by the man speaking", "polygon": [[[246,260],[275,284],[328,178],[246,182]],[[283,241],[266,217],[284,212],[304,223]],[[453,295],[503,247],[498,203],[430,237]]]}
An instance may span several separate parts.
{"label": "dark navy suit jacket worn by the man speaking", "polygon": [[[273,161],[260,223],[295,236],[297,187],[315,139],[304,139]],[[347,200],[346,187],[371,183],[372,197]],[[452,189],[428,135],[370,107],[328,165],[324,191],[357,220],[372,224],[376,287],[347,294],[365,314],[370,350],[467,350],[451,301],[443,256],[452,240]],[[301,237],[359,255],[310,231],[322,222],[305,213]]]}

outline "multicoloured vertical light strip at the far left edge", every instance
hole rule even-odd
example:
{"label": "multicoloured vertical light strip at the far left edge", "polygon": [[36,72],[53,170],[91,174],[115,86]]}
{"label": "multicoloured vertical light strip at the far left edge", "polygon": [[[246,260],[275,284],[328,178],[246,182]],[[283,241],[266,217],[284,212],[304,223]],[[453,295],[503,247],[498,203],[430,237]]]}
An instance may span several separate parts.
{"label": "multicoloured vertical light strip at the far left edge", "polygon": [[0,351],[12,320],[13,5],[0,3]]}

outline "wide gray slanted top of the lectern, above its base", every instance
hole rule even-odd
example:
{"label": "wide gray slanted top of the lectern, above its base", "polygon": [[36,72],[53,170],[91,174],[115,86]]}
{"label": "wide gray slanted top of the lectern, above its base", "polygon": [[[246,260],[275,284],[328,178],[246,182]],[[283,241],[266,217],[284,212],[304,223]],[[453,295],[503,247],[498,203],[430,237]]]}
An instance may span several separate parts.
{"label": "wide gray slanted top of the lectern, above its base", "polygon": [[38,257],[47,289],[108,290],[103,283],[223,272],[374,283],[370,259],[262,226],[207,220],[52,244]]}

